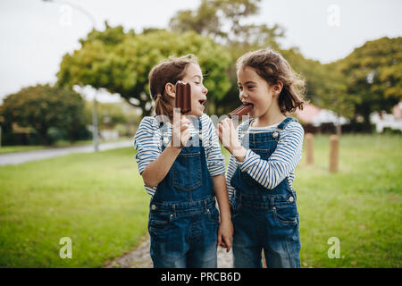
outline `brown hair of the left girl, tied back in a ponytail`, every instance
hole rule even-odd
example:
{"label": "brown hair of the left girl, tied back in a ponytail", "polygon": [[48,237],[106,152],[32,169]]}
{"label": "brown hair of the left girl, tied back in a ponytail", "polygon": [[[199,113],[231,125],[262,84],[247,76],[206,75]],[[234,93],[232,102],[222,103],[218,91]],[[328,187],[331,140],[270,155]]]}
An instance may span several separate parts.
{"label": "brown hair of the left girl, tied back in a ponytail", "polygon": [[[151,98],[155,100],[154,112],[156,115],[167,115],[172,118],[173,106],[164,94],[164,88],[168,82],[174,85],[178,80],[183,80],[186,76],[188,63],[198,65],[197,57],[192,54],[180,57],[171,55],[167,60],[155,65],[149,72],[149,92]],[[161,97],[158,97],[158,95],[161,95]]]}

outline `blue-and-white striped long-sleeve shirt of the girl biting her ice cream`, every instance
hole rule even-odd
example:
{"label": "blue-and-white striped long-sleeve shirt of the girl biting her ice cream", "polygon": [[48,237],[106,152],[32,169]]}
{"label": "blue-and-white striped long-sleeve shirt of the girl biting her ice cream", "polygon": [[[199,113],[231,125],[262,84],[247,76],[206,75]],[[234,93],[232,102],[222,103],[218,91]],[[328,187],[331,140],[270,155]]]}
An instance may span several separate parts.
{"label": "blue-and-white striped long-sleeve shirt of the girl biting her ice cream", "polygon": [[[239,140],[244,137],[247,130],[243,122],[238,127]],[[272,132],[276,130],[278,124],[266,127],[249,127],[248,132]],[[234,156],[230,156],[228,171],[226,173],[226,183],[228,186],[229,198],[232,198],[236,189],[230,185],[230,179],[240,167],[241,172],[247,172],[255,181],[258,181],[267,190],[278,186],[285,178],[292,185],[295,179],[295,168],[300,162],[303,149],[304,130],[298,122],[289,122],[281,131],[278,145],[268,160],[263,160],[252,150],[248,149],[243,162],[239,163]]]}

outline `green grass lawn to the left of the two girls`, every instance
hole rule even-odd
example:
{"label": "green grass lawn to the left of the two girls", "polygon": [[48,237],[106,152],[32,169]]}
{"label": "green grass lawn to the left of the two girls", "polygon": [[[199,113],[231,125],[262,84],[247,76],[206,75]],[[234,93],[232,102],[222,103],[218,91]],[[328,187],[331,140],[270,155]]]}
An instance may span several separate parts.
{"label": "green grass lawn to the left of the two girls", "polygon": [[[1,267],[101,267],[147,231],[130,148],[0,167],[0,189]],[[72,259],[59,256],[63,237]]]}

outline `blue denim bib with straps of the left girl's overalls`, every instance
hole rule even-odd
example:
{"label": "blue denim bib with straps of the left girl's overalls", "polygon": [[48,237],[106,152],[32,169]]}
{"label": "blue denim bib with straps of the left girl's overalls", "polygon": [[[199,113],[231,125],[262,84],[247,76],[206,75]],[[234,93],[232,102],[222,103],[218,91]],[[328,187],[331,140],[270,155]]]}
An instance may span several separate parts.
{"label": "blue denim bib with straps of the left girl's overalls", "polygon": [[[202,123],[199,118],[190,117],[190,119],[198,127],[198,132],[188,140],[186,147],[181,148],[170,171],[158,184],[151,205],[188,203],[212,198],[214,195],[213,181],[207,168],[205,147],[202,144]],[[163,132],[161,136],[163,151],[171,138],[164,138]]]}

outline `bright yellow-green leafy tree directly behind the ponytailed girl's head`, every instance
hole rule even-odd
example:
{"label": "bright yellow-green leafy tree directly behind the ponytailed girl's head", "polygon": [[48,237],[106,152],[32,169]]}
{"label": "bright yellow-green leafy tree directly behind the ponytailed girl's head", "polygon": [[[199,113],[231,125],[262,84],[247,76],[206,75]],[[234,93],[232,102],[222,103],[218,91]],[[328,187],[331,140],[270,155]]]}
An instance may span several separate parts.
{"label": "bright yellow-green leafy tree directly behind the ponytailed girl's head", "polygon": [[130,105],[140,107],[143,115],[149,115],[152,107],[148,73],[169,55],[197,55],[205,72],[205,86],[210,90],[209,100],[223,97],[230,88],[226,74],[230,55],[213,40],[195,32],[180,35],[163,29],[147,29],[135,35],[106,23],[105,31],[94,29],[80,42],[79,50],[63,56],[57,84],[91,85],[119,93]]}

